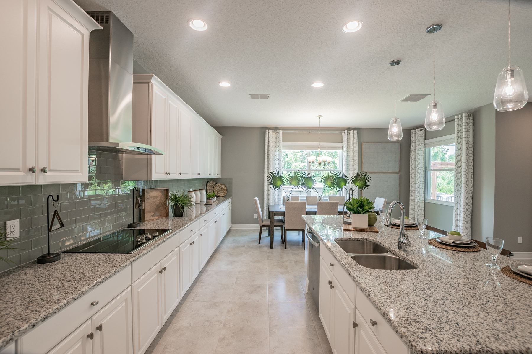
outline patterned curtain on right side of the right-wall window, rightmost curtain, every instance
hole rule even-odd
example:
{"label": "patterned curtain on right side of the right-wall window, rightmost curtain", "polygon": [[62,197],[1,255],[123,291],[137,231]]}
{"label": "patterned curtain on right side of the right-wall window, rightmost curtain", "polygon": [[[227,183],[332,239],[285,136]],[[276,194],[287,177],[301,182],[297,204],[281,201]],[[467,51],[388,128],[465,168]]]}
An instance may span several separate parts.
{"label": "patterned curtain on right side of the right-wall window, rightmost curtain", "polygon": [[473,203],[473,115],[455,117],[454,222],[453,230],[471,238]]}

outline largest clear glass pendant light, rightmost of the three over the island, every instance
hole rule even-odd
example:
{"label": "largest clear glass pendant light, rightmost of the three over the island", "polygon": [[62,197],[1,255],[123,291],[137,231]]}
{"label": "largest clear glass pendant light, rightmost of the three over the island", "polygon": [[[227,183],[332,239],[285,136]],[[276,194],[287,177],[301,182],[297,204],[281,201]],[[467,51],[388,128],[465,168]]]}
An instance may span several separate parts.
{"label": "largest clear glass pendant light, rightmost of the three over the island", "polygon": [[528,101],[527,85],[522,70],[510,65],[510,0],[508,0],[508,66],[497,77],[493,105],[498,111],[523,108]]}

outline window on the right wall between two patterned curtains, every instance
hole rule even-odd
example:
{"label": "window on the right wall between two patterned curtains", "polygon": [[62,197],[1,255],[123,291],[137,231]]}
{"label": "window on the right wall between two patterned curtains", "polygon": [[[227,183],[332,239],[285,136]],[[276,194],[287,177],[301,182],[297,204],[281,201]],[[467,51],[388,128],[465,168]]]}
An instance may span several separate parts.
{"label": "window on the right wall between two patterned curtains", "polygon": [[425,201],[454,205],[454,135],[425,141]]}

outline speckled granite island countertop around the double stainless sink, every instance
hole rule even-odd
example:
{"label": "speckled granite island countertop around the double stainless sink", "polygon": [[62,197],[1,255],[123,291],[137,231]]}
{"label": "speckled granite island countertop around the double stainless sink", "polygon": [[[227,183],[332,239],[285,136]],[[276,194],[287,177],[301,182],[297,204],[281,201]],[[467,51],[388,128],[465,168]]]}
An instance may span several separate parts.
{"label": "speckled granite island countertop around the double stainless sink", "polygon": [[[342,217],[303,218],[413,353],[532,352],[532,287],[492,273],[485,249],[448,251],[419,239],[419,230],[406,230],[412,245],[398,250],[399,230],[383,229],[380,217],[378,234],[342,232]],[[419,268],[365,268],[335,239],[375,241]],[[497,257],[501,267],[517,262]]]}

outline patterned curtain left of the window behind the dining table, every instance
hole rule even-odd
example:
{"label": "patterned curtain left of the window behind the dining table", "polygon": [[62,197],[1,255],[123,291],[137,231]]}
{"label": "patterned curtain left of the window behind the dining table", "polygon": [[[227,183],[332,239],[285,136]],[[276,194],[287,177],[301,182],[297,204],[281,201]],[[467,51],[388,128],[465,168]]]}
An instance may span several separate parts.
{"label": "patterned curtain left of the window behind the dining table", "polygon": [[264,206],[263,218],[269,219],[268,205],[282,204],[281,191],[274,191],[268,187],[270,171],[282,169],[282,131],[266,129],[264,134]]}

